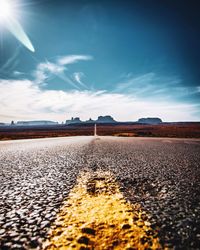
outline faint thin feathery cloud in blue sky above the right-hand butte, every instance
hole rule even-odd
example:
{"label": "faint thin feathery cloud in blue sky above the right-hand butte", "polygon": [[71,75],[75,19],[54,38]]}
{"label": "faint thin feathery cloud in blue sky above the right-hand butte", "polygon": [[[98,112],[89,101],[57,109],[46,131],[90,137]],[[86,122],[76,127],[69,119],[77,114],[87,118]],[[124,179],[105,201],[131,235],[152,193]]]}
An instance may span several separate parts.
{"label": "faint thin feathery cloud in blue sky above the right-hand butte", "polygon": [[123,75],[113,91],[114,93],[132,93],[137,98],[175,99],[188,98],[198,93],[198,87],[185,86],[178,76],[160,76],[154,72],[133,76]]}

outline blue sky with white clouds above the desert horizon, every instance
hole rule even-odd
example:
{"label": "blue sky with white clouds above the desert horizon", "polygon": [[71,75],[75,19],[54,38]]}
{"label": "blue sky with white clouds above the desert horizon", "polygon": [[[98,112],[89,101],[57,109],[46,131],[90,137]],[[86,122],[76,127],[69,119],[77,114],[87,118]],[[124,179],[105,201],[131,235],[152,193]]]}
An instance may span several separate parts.
{"label": "blue sky with white clouds above the desert horizon", "polygon": [[8,1],[35,52],[0,20],[0,122],[200,121],[198,0]]}

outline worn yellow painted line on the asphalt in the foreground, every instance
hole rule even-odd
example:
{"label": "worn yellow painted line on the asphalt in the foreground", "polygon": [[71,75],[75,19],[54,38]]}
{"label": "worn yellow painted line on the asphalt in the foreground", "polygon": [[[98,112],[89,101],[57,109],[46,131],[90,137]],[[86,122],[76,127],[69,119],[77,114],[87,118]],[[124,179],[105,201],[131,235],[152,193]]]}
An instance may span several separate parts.
{"label": "worn yellow painted line on the asphalt in the foreground", "polygon": [[127,202],[110,173],[83,172],[43,249],[161,249],[141,207]]}

